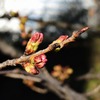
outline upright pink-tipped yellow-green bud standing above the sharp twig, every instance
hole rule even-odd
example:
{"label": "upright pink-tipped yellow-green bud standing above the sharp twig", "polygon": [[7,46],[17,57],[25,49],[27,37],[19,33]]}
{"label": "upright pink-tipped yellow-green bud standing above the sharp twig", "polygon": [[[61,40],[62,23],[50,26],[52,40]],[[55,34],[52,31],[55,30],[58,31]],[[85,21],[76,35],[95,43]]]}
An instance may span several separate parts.
{"label": "upright pink-tipped yellow-green bud standing above the sharp twig", "polygon": [[39,44],[43,40],[43,34],[36,32],[33,34],[29,42],[27,43],[26,49],[25,49],[25,55],[29,55],[31,53],[34,53],[37,49]]}

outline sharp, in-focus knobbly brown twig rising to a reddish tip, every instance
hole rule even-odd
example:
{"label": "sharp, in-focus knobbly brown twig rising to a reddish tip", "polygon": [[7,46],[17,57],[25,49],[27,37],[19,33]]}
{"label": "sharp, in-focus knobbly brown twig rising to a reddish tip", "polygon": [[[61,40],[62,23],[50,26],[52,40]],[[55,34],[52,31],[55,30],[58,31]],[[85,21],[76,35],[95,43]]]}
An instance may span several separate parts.
{"label": "sharp, in-focus knobbly brown twig rising to a reddish tip", "polygon": [[55,43],[55,44],[51,43],[46,49],[40,50],[40,51],[33,53],[29,56],[21,56],[20,58],[16,58],[16,59],[13,59],[13,60],[7,60],[3,63],[0,63],[0,69],[4,68],[6,66],[15,66],[16,64],[21,64],[22,62],[27,61],[31,56],[36,57],[40,54],[45,54],[47,52],[54,50],[57,47],[62,48],[62,47],[64,47],[64,45],[66,45],[70,42],[73,42],[81,33],[87,31],[88,29],[89,29],[88,27],[85,27],[85,28],[82,28],[81,30],[79,30],[77,32],[73,32],[72,36],[69,37],[68,39],[66,39],[65,41],[63,41],[61,43]]}

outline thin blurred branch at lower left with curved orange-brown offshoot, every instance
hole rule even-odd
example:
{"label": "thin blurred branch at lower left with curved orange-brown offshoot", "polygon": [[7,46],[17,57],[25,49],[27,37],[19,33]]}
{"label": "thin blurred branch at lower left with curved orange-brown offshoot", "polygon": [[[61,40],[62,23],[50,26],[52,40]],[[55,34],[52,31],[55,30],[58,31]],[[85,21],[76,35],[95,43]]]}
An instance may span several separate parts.
{"label": "thin blurred branch at lower left with curved orange-brown offshoot", "polygon": [[47,91],[48,91],[47,89],[42,89],[42,88],[39,88],[39,87],[35,86],[34,84],[32,84],[35,82],[40,83],[42,81],[41,78],[37,77],[36,75],[33,76],[31,74],[26,74],[24,71],[22,71],[20,69],[14,69],[14,70],[9,70],[9,71],[0,71],[0,74],[3,74],[6,77],[10,77],[10,78],[14,78],[14,79],[22,79],[23,83],[35,92],[44,94],[44,93],[47,93]]}

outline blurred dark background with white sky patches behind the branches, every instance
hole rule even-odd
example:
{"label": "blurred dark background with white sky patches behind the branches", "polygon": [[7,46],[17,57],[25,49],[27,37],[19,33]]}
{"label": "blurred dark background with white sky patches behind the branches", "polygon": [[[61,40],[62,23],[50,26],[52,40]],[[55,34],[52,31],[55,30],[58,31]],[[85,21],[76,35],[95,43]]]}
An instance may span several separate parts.
{"label": "blurred dark background with white sky patches behind the branches", "polygon": [[[39,50],[60,35],[71,36],[73,31],[89,26],[74,43],[60,52],[47,54],[46,68],[61,64],[70,66],[74,73],[65,83],[83,93],[100,84],[100,80],[76,80],[77,77],[100,73],[100,1],[99,0],[0,0],[0,62],[20,57],[34,32],[42,32],[44,41]],[[53,60],[54,59],[54,60]],[[74,83],[74,84],[73,84]],[[0,97],[3,100],[56,99],[33,92],[21,80],[0,76]],[[100,92],[90,97],[99,100]]]}

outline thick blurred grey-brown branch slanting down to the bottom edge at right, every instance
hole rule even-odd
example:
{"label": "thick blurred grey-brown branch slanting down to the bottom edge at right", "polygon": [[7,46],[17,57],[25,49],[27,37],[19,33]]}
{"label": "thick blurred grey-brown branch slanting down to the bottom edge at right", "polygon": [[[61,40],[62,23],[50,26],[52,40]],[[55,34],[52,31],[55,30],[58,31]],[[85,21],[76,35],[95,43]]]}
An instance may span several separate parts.
{"label": "thick blurred grey-brown branch slanting down to the bottom edge at right", "polygon": [[75,92],[67,85],[62,85],[61,82],[54,79],[46,70],[46,68],[43,68],[41,70],[40,75],[43,75],[43,79],[46,81],[43,85],[46,86],[50,91],[56,93],[61,99],[64,100],[87,100],[87,98]]}

